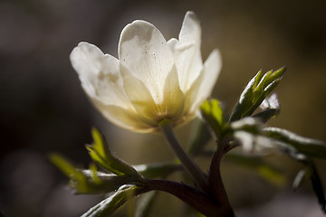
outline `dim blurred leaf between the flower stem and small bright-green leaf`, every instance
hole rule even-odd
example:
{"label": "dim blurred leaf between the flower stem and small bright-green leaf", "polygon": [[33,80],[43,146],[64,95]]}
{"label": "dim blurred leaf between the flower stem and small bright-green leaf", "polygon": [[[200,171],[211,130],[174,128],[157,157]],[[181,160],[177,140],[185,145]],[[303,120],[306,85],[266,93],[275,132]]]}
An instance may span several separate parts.
{"label": "dim blurred leaf between the flower stem and small bright-green leaf", "polygon": [[190,133],[190,145],[187,151],[191,156],[200,154],[206,144],[212,139],[212,134],[203,120],[198,118],[194,127],[194,132]]}

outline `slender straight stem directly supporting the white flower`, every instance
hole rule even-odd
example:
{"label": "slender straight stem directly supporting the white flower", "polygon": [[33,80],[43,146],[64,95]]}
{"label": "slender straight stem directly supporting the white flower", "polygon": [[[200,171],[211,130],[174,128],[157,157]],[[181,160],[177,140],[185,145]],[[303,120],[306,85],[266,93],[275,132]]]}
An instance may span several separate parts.
{"label": "slender straight stem directly supporting the white flower", "polygon": [[175,136],[172,130],[171,121],[168,119],[163,119],[158,126],[168,145],[171,147],[177,158],[180,160],[188,175],[190,175],[194,179],[195,183],[200,187],[202,191],[209,194],[206,175],[204,175],[204,173],[199,169],[198,165],[196,165],[195,162],[193,162],[189,158],[189,156],[187,156],[182,146],[180,146],[180,144],[178,143],[177,137]]}

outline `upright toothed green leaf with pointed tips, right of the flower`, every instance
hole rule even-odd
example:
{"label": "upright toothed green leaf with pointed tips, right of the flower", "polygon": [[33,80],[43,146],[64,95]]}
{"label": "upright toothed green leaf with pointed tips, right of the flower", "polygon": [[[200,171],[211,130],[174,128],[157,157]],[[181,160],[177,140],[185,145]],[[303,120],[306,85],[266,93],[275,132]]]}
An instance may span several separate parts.
{"label": "upright toothed green leaf with pointed tips, right of the flower", "polygon": [[264,99],[274,90],[283,78],[283,73],[286,68],[283,67],[277,71],[267,71],[264,75],[262,71],[254,76],[245,87],[240,99],[235,105],[232,112],[230,122],[251,116],[254,110],[257,109]]}

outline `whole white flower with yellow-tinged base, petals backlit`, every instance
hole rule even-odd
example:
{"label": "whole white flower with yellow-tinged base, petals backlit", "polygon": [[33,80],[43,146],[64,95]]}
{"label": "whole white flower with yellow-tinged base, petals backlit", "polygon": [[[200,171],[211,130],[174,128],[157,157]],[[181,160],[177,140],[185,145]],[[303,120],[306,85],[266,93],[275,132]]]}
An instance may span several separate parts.
{"label": "whole white flower with yellow-tinged base, petals backlit", "polygon": [[105,118],[151,132],[164,118],[174,126],[194,118],[209,97],[221,60],[214,50],[203,64],[200,42],[196,14],[187,12],[178,40],[167,42],[153,24],[134,21],[120,35],[119,60],[87,42],[70,58],[83,90]]}

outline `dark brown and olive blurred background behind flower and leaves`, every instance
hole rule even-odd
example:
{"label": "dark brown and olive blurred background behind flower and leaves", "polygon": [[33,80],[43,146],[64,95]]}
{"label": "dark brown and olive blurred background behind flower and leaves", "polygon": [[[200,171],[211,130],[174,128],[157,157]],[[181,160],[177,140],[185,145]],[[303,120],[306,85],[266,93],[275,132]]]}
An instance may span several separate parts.
{"label": "dark brown and olive blurred background behind flower and leaves", "polygon": [[[218,48],[223,68],[213,97],[230,112],[256,71],[288,67],[277,88],[280,116],[270,122],[326,141],[326,2],[214,0],[2,0],[0,2],[0,212],[5,216],[79,216],[101,196],[73,195],[47,156],[58,152],[76,165],[91,162],[84,144],[100,127],[118,156],[131,164],[173,159],[158,135],[112,126],[86,98],[69,54],[91,42],[117,56],[120,31],[136,19],[177,37],[187,10],[202,24],[202,53]],[[185,146],[191,124],[177,129]],[[322,216],[309,182],[291,180],[301,165],[284,156],[289,182],[268,184],[241,165],[223,165],[238,216]],[[203,160],[205,169],[206,161]],[[325,160],[318,160],[326,185]],[[161,193],[152,216],[179,216],[185,205]],[[117,216],[123,216],[120,212]]]}

